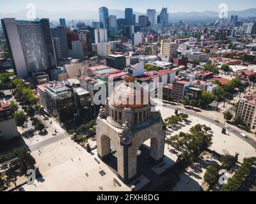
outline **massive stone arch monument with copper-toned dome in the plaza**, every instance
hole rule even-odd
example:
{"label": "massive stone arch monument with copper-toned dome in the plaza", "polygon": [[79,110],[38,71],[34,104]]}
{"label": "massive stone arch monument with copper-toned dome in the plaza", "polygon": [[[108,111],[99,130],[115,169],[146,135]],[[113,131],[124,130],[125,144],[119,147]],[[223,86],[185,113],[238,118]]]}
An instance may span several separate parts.
{"label": "massive stone arch monument with copper-toned dome in the plaza", "polygon": [[[129,89],[129,82],[134,82],[134,78],[125,78],[125,82],[112,92],[108,104],[100,109],[96,126],[98,156],[108,161],[113,156],[111,148],[115,146],[116,171],[125,184],[138,177],[137,158],[141,145],[151,140],[150,161],[156,166],[163,161],[165,140],[161,113],[151,112],[153,107],[148,93],[142,87],[138,89],[140,92],[134,92]],[[128,103],[131,97],[135,104]]]}

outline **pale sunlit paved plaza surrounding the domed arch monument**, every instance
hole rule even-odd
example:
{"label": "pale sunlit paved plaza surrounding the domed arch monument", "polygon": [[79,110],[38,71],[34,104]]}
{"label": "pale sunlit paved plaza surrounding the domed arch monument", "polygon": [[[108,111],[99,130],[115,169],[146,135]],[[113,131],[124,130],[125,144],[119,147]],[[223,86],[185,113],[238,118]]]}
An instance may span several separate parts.
{"label": "pale sunlit paved plaza surrounding the domed arch monument", "polygon": [[[174,110],[163,107],[161,110],[163,119],[174,114]],[[256,156],[255,149],[239,136],[230,133],[223,135],[220,126],[206,122],[193,115],[189,115],[189,124],[183,124],[181,129],[167,133],[167,137],[179,134],[180,131],[188,132],[192,126],[196,124],[205,124],[212,128],[214,132],[213,144],[211,150],[216,150],[219,154],[235,155],[239,152],[239,162],[243,162],[244,157]],[[49,128],[51,132],[51,127]],[[37,138],[37,139],[36,139]],[[53,139],[55,138],[55,139]],[[98,164],[95,161],[97,157],[97,149],[93,150],[92,154],[86,152],[83,147],[70,140],[65,136],[36,136],[31,140],[27,140],[33,147],[32,155],[36,159],[36,165],[40,168],[40,172],[44,176],[35,182],[35,185],[24,186],[25,191],[130,191],[129,186],[123,184],[107,164],[100,161]],[[36,143],[37,142],[37,143]],[[94,142],[90,142],[95,145]],[[239,145],[237,145],[239,144]],[[145,142],[145,147],[150,146],[150,140]],[[39,150],[38,150],[39,148]],[[172,153],[172,148],[165,146],[164,161],[152,168],[152,172],[157,175],[161,174],[167,168],[170,168],[177,160],[177,155]],[[180,175],[180,180],[172,189],[173,191],[199,191],[203,184],[204,173],[206,168],[210,166],[216,158],[206,156],[198,163],[193,164],[186,172]],[[100,171],[104,170],[106,175],[102,177]],[[86,176],[88,173],[88,177]],[[142,176],[141,180],[148,182],[147,175]],[[115,186],[113,179],[118,180],[121,187]],[[185,185],[184,185],[185,184]],[[102,189],[101,189],[102,187]],[[171,190],[171,189],[170,189]]]}

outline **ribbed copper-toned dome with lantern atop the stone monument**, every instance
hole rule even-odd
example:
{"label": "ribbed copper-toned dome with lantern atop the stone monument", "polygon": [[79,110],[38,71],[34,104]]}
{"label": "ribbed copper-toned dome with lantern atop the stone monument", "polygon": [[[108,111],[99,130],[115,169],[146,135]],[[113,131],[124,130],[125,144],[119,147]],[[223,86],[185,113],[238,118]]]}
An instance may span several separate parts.
{"label": "ribbed copper-toned dome with lantern atop the stone monument", "polygon": [[[124,83],[118,85],[111,93],[109,103],[118,108],[141,108],[150,103],[149,94],[134,77],[126,77]],[[145,99],[144,99],[145,96]]]}

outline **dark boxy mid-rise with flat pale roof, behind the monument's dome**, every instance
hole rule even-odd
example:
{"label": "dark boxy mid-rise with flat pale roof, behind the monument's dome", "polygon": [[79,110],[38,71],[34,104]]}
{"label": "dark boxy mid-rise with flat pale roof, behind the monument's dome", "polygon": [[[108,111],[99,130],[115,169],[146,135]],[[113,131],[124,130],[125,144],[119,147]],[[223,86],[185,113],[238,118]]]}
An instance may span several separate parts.
{"label": "dark boxy mid-rise with flat pale roof, behind the monument's dome", "polygon": [[124,69],[126,67],[126,59],[124,55],[111,54],[106,57],[107,66],[115,69]]}

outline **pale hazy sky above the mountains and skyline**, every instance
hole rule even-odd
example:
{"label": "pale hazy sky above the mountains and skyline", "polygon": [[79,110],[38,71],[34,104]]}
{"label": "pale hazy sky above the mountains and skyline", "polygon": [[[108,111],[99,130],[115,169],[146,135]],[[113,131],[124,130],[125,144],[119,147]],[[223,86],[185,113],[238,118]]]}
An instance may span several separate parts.
{"label": "pale hazy sky above the mountains and skyline", "polygon": [[24,10],[28,3],[34,3],[37,9],[47,11],[98,10],[100,6],[118,10],[131,7],[143,13],[148,8],[159,11],[163,6],[168,7],[169,12],[218,11],[220,3],[226,3],[228,10],[256,8],[255,0],[0,0],[0,13]]}

